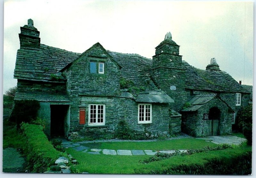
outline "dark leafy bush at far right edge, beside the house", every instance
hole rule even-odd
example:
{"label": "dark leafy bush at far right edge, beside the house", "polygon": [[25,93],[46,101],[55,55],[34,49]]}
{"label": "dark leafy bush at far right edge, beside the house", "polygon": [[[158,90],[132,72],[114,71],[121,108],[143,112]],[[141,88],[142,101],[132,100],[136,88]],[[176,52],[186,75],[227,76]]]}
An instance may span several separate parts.
{"label": "dark leafy bush at far right edge, beside the house", "polygon": [[252,105],[242,108],[237,113],[237,126],[247,139],[247,144],[252,145]]}

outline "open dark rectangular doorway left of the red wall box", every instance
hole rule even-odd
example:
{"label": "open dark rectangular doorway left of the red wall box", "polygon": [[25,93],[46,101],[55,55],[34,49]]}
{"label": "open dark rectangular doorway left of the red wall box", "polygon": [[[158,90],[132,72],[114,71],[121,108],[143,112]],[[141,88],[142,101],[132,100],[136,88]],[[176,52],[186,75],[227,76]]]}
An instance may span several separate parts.
{"label": "open dark rectangular doorway left of the red wall box", "polygon": [[69,105],[51,105],[51,137],[65,136],[65,119]]}

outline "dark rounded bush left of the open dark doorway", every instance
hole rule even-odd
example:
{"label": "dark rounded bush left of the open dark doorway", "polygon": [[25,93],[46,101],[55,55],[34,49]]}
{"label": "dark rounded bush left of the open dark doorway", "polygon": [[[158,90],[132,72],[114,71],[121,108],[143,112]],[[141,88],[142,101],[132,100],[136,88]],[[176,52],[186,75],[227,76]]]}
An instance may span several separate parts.
{"label": "dark rounded bush left of the open dark doorway", "polygon": [[14,102],[14,108],[10,120],[16,121],[17,129],[20,128],[21,122],[30,123],[36,120],[37,111],[40,108],[37,100],[17,100]]}

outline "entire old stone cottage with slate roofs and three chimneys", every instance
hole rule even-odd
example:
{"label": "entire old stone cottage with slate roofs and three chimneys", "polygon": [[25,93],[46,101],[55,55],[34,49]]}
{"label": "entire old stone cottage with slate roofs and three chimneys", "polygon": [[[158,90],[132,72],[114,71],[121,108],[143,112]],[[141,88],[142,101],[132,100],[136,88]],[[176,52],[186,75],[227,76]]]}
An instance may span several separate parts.
{"label": "entire old stone cottage with slate roofs and three chimneys", "polygon": [[111,138],[121,122],[145,137],[225,135],[250,101],[216,59],[206,70],[182,61],[170,32],[148,59],[100,43],[82,54],[41,44],[31,19],[20,30],[15,100],[40,102],[49,136]]}

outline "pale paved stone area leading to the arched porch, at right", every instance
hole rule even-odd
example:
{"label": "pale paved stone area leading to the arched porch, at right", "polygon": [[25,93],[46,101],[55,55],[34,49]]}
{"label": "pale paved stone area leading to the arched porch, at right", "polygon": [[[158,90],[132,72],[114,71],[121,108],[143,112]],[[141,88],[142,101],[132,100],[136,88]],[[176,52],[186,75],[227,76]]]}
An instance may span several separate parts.
{"label": "pale paved stone area leading to the arched porch, at right", "polygon": [[202,138],[196,138],[196,139],[202,139],[206,142],[212,142],[214,144],[233,144],[233,145],[239,145],[240,143],[246,141],[245,138],[240,138],[232,135],[226,135],[226,136],[209,136],[209,137],[202,137]]}

